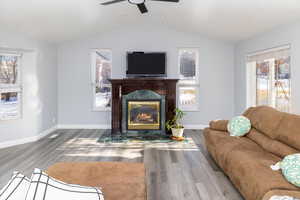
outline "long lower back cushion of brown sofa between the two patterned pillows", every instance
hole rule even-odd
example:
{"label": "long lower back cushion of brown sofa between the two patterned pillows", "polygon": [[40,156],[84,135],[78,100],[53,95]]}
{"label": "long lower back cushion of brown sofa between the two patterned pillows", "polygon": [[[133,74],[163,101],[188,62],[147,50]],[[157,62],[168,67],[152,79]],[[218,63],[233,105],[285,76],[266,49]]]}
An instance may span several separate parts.
{"label": "long lower back cushion of brown sofa between the two patterned pillows", "polygon": [[247,134],[247,137],[261,146],[264,150],[273,153],[281,158],[290,154],[298,153],[298,150],[294,149],[293,147],[290,147],[280,141],[273,140],[263,133],[259,132],[255,128],[253,128],[250,133]]}

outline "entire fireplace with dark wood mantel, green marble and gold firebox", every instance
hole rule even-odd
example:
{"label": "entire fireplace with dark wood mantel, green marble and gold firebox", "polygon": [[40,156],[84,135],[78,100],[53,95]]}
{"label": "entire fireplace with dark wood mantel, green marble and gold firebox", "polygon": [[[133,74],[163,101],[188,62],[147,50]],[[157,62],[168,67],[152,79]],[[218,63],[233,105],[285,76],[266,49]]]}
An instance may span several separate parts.
{"label": "entire fireplace with dark wood mantel, green marble and gold firebox", "polygon": [[112,134],[165,134],[174,115],[177,79],[111,79]]}

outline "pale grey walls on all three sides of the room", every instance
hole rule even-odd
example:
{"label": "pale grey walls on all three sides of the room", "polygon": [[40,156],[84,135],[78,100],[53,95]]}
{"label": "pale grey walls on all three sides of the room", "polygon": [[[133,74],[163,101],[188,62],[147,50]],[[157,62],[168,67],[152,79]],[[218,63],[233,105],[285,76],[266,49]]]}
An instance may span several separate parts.
{"label": "pale grey walls on all three sides of the room", "polygon": [[[284,44],[292,48],[292,109],[300,113],[300,23],[232,45],[197,34],[165,27],[139,25],[113,30],[95,37],[69,41],[56,48],[37,40],[0,31],[0,50],[22,49],[23,118],[0,122],[3,142],[38,136],[56,125],[108,126],[109,112],[92,111],[90,50],[113,50],[113,78],[123,78],[127,51],[166,51],[168,76],[178,74],[177,48],[200,51],[200,110],[189,112],[185,124],[205,125],[216,118],[230,118],[246,109],[245,56]],[[58,55],[58,56],[57,56]],[[57,69],[58,68],[58,69]],[[58,82],[58,83],[57,83]]]}

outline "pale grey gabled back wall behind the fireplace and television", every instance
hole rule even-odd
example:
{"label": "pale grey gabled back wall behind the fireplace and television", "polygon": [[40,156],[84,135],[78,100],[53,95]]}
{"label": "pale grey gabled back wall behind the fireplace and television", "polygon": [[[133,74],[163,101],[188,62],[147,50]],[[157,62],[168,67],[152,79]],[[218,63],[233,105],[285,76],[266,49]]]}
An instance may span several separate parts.
{"label": "pale grey gabled back wall behind the fireplace and television", "polygon": [[92,111],[90,51],[113,51],[113,78],[124,78],[126,52],[166,51],[168,76],[178,76],[177,48],[199,47],[200,111],[185,118],[189,125],[228,118],[234,111],[234,46],[197,34],[152,25],[135,25],[96,37],[66,42],[58,47],[58,123],[61,125],[110,125],[109,112]]}

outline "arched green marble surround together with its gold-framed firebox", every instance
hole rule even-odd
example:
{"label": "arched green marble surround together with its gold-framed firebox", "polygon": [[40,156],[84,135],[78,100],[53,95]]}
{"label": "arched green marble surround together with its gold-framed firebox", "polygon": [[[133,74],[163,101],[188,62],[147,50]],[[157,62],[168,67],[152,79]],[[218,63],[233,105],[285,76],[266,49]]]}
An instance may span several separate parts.
{"label": "arched green marble surround together with its gold-framed firebox", "polygon": [[122,98],[122,133],[165,133],[165,97],[137,90]]}

